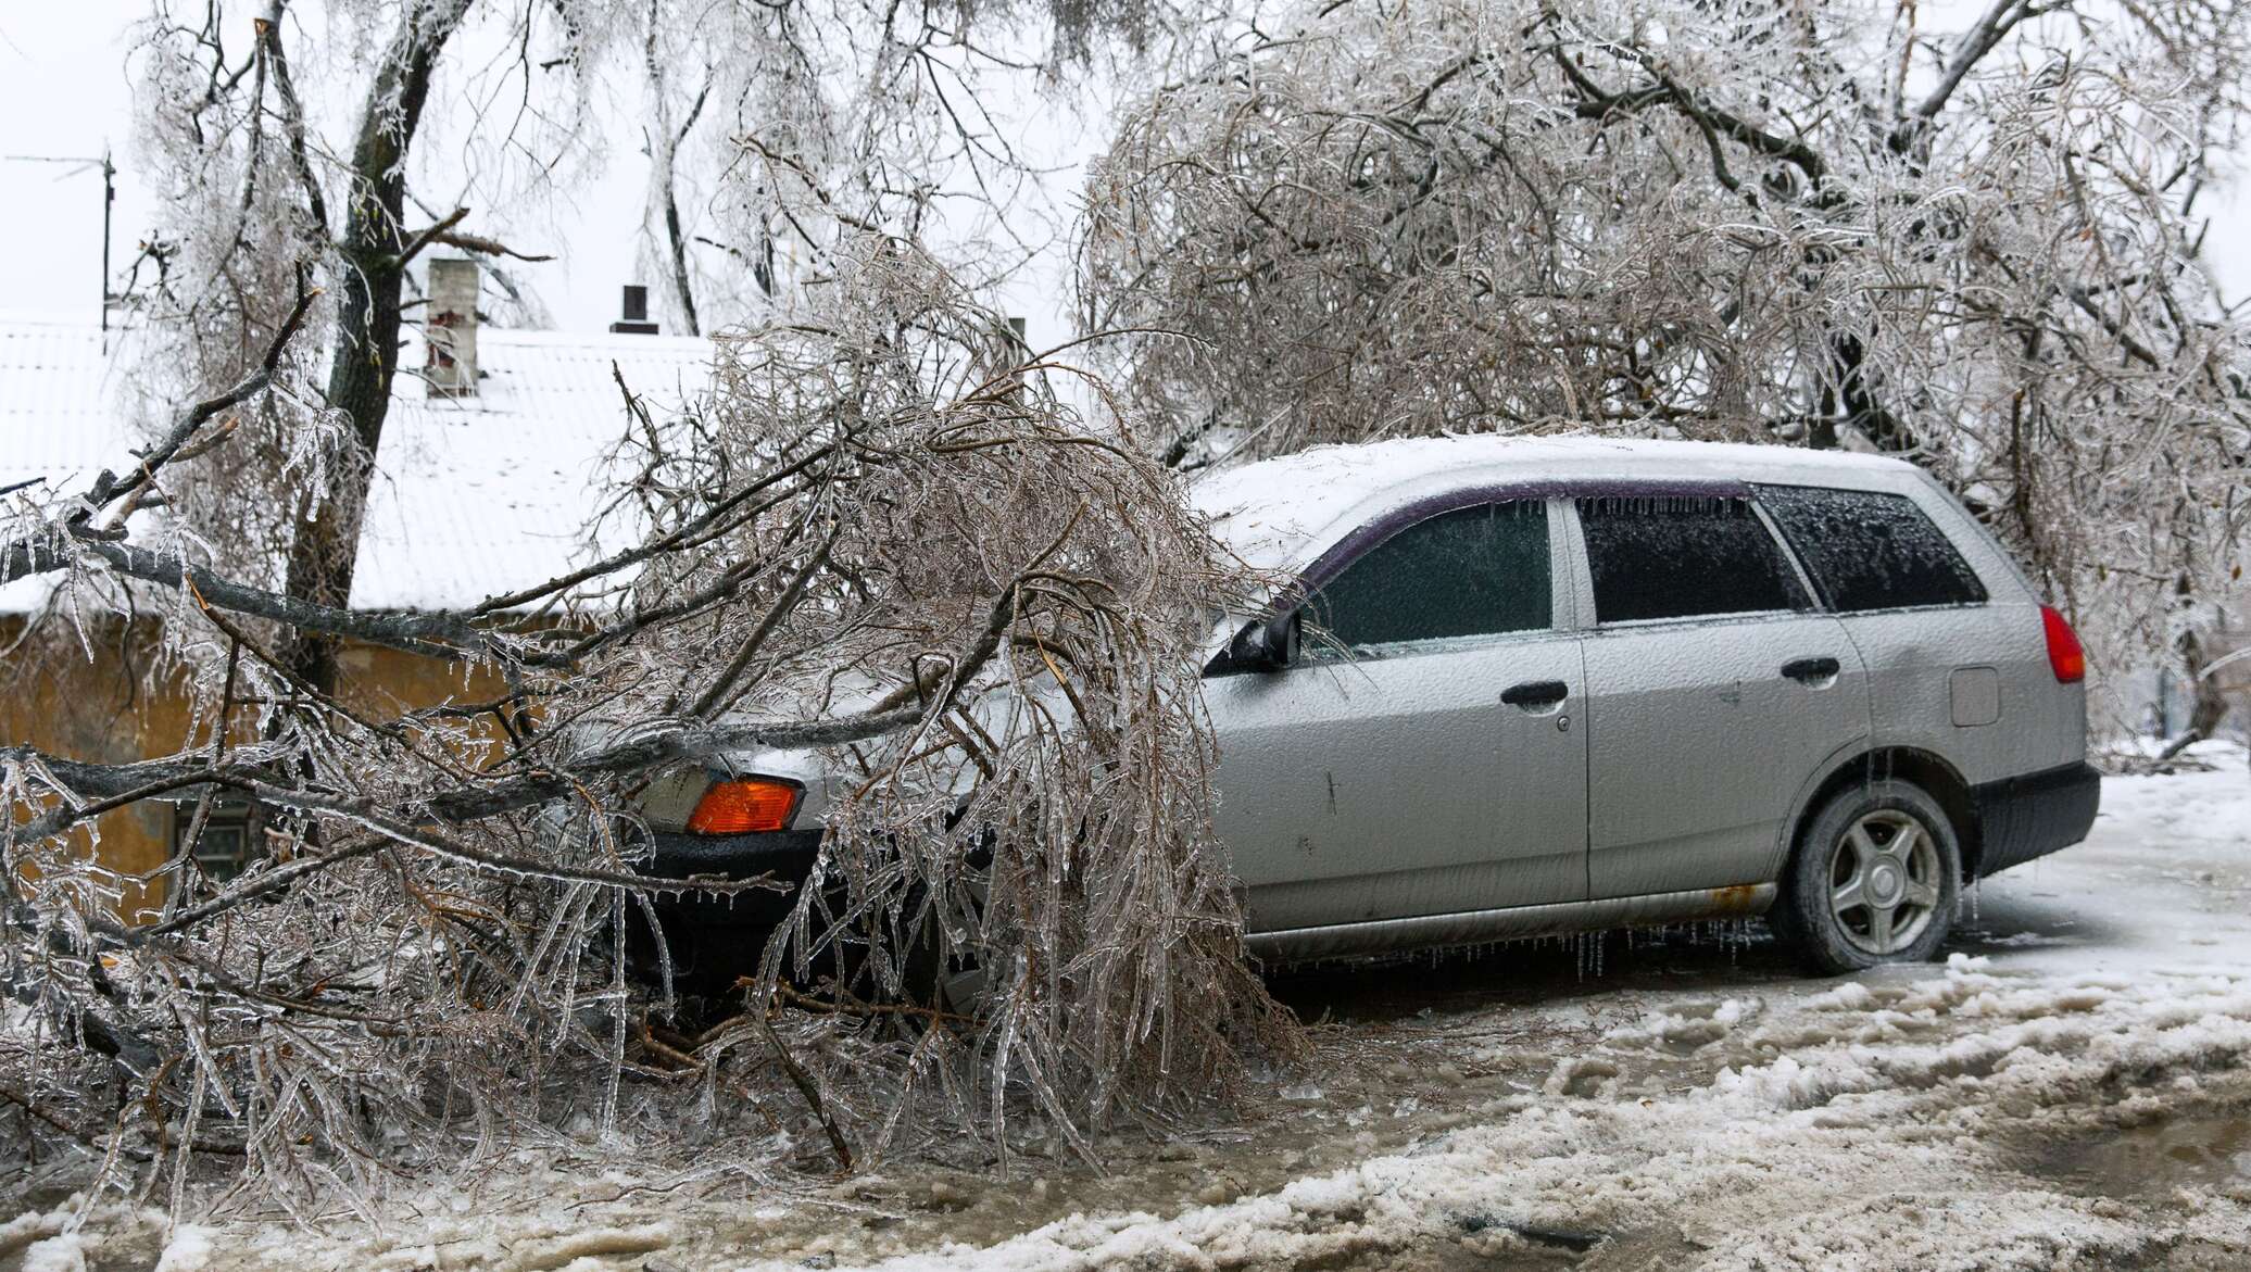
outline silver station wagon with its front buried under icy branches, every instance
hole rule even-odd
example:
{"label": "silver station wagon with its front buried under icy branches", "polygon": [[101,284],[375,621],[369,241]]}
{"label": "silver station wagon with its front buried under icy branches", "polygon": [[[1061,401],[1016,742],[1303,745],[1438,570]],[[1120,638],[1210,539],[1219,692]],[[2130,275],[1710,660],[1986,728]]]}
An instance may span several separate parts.
{"label": "silver station wagon with its front buried under icy branches", "polygon": [[[1965,880],[2096,817],[2078,639],[1911,464],[1411,439],[1193,498],[1288,581],[1204,669],[1267,961],[1756,914],[1826,973],[1927,959]],[[696,774],[653,869],[804,878],[813,756],[727,759],[788,826],[689,831],[729,788]]]}

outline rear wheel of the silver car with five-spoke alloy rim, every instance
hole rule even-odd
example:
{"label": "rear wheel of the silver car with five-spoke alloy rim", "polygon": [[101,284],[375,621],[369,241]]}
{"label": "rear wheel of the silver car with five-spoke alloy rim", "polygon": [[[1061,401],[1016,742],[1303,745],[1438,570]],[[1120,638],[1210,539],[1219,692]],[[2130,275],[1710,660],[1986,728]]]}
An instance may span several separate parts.
{"label": "rear wheel of the silver car with five-spoke alloy rim", "polygon": [[1772,921],[1821,975],[1938,955],[1961,898],[1961,840],[1909,781],[1866,781],[1823,804],[1790,858]]}

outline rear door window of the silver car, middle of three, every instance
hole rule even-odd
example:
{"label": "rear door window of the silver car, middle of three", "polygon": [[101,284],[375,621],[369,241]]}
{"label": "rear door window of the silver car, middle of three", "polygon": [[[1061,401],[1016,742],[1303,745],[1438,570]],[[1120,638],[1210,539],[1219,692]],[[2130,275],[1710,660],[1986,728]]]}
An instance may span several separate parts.
{"label": "rear door window of the silver car, middle of three", "polygon": [[1634,495],[1578,502],[1600,624],[1805,608],[1751,500]]}

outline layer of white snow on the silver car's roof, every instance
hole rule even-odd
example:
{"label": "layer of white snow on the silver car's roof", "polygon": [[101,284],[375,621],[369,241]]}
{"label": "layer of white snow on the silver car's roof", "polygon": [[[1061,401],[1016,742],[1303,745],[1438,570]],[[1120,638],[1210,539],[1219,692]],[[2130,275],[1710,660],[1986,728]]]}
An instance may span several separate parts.
{"label": "layer of white snow on the silver car's roof", "polygon": [[1402,437],[1315,446],[1279,459],[1220,468],[1189,489],[1211,529],[1256,570],[1301,570],[1348,529],[1418,498],[1474,484],[1585,480],[1882,484],[1913,471],[1902,459],[1848,450],[1652,441],[1623,437]]}

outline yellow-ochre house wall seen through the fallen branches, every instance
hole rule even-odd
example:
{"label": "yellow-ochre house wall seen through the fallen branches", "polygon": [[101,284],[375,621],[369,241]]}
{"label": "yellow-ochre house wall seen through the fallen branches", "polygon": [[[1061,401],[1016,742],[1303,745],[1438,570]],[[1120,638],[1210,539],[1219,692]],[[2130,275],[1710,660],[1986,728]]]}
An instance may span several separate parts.
{"label": "yellow-ochre house wall seen through the fallen branches", "polygon": [[[151,621],[106,621],[86,633],[92,651],[68,624],[47,621],[25,639],[20,615],[0,615],[0,741],[29,743],[47,754],[124,763],[176,754],[187,743],[209,745],[209,720],[194,723],[185,678],[155,669]],[[389,718],[446,702],[484,702],[504,693],[488,669],[416,657],[394,648],[347,646],[338,657],[338,698],[351,709]],[[241,736],[254,725],[236,720]],[[97,851],[117,876],[149,874],[171,856],[176,819],[191,806],[149,799],[97,819],[74,837],[77,851]],[[158,907],[162,885],[117,880],[110,901],[119,914]]]}

